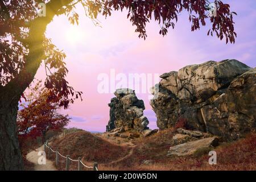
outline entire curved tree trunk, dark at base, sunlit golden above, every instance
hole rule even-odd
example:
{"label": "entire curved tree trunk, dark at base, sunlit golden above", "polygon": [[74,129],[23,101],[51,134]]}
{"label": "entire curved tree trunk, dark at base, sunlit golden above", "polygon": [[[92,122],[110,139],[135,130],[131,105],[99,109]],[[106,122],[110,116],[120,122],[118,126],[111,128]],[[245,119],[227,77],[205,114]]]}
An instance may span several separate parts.
{"label": "entire curved tree trunk, dark at base, sunlit golden above", "polygon": [[26,64],[19,75],[11,79],[5,86],[0,85],[0,171],[23,170],[22,155],[16,133],[16,117],[18,101],[24,90],[33,81],[40,63],[44,59],[43,41],[47,24],[55,14],[73,0],[50,1],[47,3],[47,16],[37,17],[32,21],[27,38],[29,54]]}

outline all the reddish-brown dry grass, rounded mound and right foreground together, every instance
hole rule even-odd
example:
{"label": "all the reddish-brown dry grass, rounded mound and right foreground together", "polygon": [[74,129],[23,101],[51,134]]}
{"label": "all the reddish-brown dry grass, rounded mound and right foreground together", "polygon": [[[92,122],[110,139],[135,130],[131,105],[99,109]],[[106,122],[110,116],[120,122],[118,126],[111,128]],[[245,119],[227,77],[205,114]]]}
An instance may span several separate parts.
{"label": "all the reddish-brown dry grass, rounded mound and right foreground together", "polygon": [[[99,169],[104,170],[256,170],[256,134],[247,135],[233,143],[221,144],[215,148],[217,165],[208,163],[209,156],[205,152],[195,156],[168,157],[168,149],[172,143],[174,129],[160,131],[147,138],[135,140],[135,147],[121,143],[119,146],[108,139],[102,139],[86,131],[68,134],[58,139],[52,146],[58,146],[61,154],[72,154],[72,159],[82,157],[83,162],[92,165],[99,163]],[[54,148],[53,148],[54,149]],[[130,154],[129,154],[130,152]],[[127,157],[126,157],[127,156]],[[121,159],[122,160],[118,160]],[[52,158],[54,159],[54,158]],[[152,160],[152,164],[144,165],[143,160]],[[110,162],[117,161],[110,165]],[[65,162],[59,169],[64,169]],[[72,164],[77,169],[77,163]]]}

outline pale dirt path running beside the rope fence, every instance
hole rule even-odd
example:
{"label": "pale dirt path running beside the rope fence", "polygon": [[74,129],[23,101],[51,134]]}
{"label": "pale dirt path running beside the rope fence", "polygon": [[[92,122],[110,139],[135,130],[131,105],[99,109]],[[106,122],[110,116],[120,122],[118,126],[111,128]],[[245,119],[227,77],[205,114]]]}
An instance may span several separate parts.
{"label": "pale dirt path running beside the rope fence", "polygon": [[38,156],[38,152],[43,150],[44,150],[44,146],[41,146],[36,150],[27,154],[27,160],[35,165],[34,171],[57,171],[57,169],[55,168],[51,160],[46,159],[46,164],[42,164],[42,165],[38,164],[38,159],[40,157]]}

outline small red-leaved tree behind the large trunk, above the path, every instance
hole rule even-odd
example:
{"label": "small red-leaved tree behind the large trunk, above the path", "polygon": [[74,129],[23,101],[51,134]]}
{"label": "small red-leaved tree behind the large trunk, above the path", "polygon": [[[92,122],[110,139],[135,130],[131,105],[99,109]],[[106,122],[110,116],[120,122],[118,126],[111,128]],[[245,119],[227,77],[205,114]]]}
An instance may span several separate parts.
{"label": "small red-leaved tree behind the large trunk, above the path", "polygon": [[[51,92],[42,88],[42,81],[28,90],[26,101],[20,104],[18,111],[18,135],[20,138],[42,137],[42,142],[46,139],[48,130],[63,129],[70,122],[68,115],[58,113],[61,109],[58,102],[49,100]],[[21,141],[19,141],[21,142]]]}

